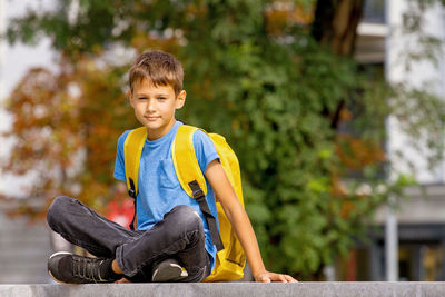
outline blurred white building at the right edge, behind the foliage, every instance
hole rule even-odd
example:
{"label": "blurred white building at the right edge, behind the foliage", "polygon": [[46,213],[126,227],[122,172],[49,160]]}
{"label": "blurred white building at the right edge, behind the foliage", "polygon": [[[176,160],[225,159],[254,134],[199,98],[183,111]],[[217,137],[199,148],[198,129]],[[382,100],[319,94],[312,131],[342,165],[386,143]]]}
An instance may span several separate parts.
{"label": "blurred white building at the right edge, behind the foliage", "polygon": [[[356,59],[362,63],[382,67],[389,82],[406,82],[415,88],[424,88],[445,100],[444,7],[436,4],[423,12],[424,33],[443,42],[442,50],[436,52],[437,63],[434,65],[428,60],[406,60],[408,51],[422,50],[418,36],[406,34],[402,30],[403,14],[408,9],[415,9],[409,7],[415,1],[365,2],[365,17],[357,28]],[[406,62],[411,62],[408,69],[405,68]],[[339,273],[337,279],[445,280],[445,161],[429,168],[426,158],[428,151],[422,146],[423,140],[416,139],[421,149],[415,149],[395,117],[389,117],[387,121],[387,133],[386,148],[393,164],[389,179],[396,172],[406,172],[414,175],[419,186],[406,190],[407,199],[399,200],[394,214],[387,212],[386,208],[377,212],[376,221],[380,228],[370,235],[372,244],[353,250],[349,264],[343,265],[343,274]],[[385,225],[389,238],[385,238]],[[393,237],[397,234],[398,240]],[[385,246],[389,246],[386,251]]]}

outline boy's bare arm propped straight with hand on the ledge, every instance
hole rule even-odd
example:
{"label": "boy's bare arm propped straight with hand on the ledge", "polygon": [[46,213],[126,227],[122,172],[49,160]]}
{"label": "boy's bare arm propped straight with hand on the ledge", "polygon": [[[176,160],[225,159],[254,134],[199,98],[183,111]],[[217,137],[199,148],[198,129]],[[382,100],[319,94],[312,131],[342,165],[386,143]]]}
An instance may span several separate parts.
{"label": "boy's bare arm propped straight with hand on the ledge", "polygon": [[239,241],[243,245],[255,280],[264,283],[296,281],[291,276],[274,274],[266,270],[250,220],[239,202],[222,166],[217,159],[208,165],[205,176],[210,182],[211,188],[215,190],[215,194],[222,206],[224,212],[229,219]]}

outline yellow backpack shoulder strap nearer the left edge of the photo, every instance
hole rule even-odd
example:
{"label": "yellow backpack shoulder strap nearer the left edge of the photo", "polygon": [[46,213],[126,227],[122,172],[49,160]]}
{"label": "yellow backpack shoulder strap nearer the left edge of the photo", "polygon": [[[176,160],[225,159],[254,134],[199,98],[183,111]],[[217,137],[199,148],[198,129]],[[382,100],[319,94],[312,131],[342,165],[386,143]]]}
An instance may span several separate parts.
{"label": "yellow backpack shoulder strap nearer the left edge of the photo", "polygon": [[128,133],[123,143],[123,164],[128,194],[136,199],[138,196],[139,162],[144,143],[147,139],[146,127],[140,127]]}

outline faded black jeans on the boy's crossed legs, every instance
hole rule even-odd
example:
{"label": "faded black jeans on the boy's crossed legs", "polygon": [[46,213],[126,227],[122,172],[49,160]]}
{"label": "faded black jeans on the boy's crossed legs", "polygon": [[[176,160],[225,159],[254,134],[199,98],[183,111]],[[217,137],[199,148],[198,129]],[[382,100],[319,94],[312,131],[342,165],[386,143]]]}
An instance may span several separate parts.
{"label": "faded black jeans on the boy's crossed legs", "polygon": [[77,199],[60,196],[47,215],[50,228],[97,257],[116,258],[131,281],[150,281],[152,266],[177,259],[187,270],[181,281],[201,281],[210,274],[202,220],[186,205],[172,208],[150,230],[128,230]]}

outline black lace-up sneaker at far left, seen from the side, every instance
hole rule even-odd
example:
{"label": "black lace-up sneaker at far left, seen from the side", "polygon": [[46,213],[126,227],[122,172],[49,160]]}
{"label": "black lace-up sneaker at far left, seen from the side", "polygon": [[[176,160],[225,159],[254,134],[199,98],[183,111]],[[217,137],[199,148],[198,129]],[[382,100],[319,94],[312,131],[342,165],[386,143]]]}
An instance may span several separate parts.
{"label": "black lace-up sneaker at far left, seen from the side", "polygon": [[100,284],[115,283],[120,278],[112,278],[106,271],[110,259],[90,258],[73,255],[67,251],[52,254],[48,259],[48,273],[62,284]]}

